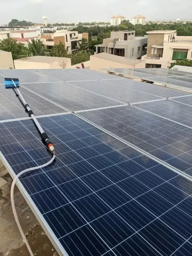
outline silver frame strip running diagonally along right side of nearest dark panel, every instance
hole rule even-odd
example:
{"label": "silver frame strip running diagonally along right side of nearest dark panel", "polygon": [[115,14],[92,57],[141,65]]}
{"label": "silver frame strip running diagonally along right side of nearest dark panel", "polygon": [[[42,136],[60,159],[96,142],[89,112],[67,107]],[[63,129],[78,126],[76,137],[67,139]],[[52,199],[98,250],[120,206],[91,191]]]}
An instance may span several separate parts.
{"label": "silver frame strip running diagonally along right side of nearest dark panel", "polygon": [[[142,110],[142,109],[141,109]],[[87,123],[91,124],[92,126],[98,128],[99,130],[105,132],[106,134],[110,135],[111,137],[113,137],[114,139],[120,141],[120,142],[123,142],[125,145],[137,150],[139,153],[145,155],[145,156],[148,156],[149,158],[151,158],[152,160],[158,162],[159,164],[162,164],[163,166],[165,166],[166,168],[170,169],[171,171],[174,171],[176,172],[177,174],[183,176],[184,178],[192,181],[192,176],[190,176],[189,174],[187,173],[183,173],[182,171],[178,170],[177,168],[173,167],[172,165],[166,163],[165,161],[157,158],[156,156],[152,156],[150,153],[144,151],[143,149],[133,145],[132,143],[130,142],[126,142],[125,140],[121,139],[119,136],[116,136],[115,134],[113,134],[112,132],[106,130],[106,129],[103,129],[101,128],[100,126],[94,124],[93,122],[89,121],[88,119],[82,117],[81,115],[79,115],[78,113],[76,112],[73,112],[73,114],[75,114],[76,116],[78,116],[79,118],[81,118],[82,120],[86,121]],[[152,113],[153,114],[153,113]]]}

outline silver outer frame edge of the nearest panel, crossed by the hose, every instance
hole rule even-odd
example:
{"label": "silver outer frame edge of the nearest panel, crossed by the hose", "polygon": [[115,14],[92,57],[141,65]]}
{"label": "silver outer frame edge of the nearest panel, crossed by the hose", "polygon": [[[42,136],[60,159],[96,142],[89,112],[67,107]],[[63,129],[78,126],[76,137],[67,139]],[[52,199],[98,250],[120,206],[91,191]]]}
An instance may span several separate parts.
{"label": "silver outer frame edge of the nearest panel, crossed by the hose", "polygon": [[[5,156],[3,156],[2,152],[0,151],[0,159],[5,166],[5,168],[9,171],[9,174],[11,175],[12,179],[14,179],[15,172],[13,171],[12,167],[6,160]],[[53,230],[49,227],[47,221],[43,217],[43,215],[40,213],[40,210],[37,208],[36,204],[33,202],[33,200],[30,198],[27,190],[25,189],[24,185],[22,185],[21,181],[17,179],[16,185],[21,192],[24,199],[27,201],[27,204],[31,208],[32,212],[34,213],[35,217],[37,218],[38,222],[41,224],[41,227],[45,230],[49,240],[54,245],[55,249],[59,253],[59,255],[65,255],[69,256],[62,244],[59,242],[59,240],[56,238]],[[28,196],[27,196],[28,195]]]}

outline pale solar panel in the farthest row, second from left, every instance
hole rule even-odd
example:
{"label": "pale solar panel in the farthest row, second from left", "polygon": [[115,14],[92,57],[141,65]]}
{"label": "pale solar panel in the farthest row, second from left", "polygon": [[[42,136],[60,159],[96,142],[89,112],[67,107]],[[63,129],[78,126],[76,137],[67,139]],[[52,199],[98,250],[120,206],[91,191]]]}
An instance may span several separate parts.
{"label": "pale solar panel in the farthest row, second from left", "polygon": [[45,75],[50,75],[61,81],[84,81],[99,79],[121,79],[121,77],[111,76],[109,74],[86,70],[86,69],[65,69],[65,70],[37,70]]}

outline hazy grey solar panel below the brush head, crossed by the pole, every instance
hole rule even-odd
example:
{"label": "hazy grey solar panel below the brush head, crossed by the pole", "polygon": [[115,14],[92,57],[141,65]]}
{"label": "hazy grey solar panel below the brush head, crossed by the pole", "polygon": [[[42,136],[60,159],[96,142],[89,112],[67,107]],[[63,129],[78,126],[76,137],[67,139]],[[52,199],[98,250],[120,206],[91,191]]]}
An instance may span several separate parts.
{"label": "hazy grey solar panel below the brush head, crossed by the pole", "polygon": [[[40,96],[29,92],[20,87],[20,91],[27,103],[33,109],[36,115],[58,114],[67,112],[66,109],[41,98]],[[0,85],[0,120],[27,117],[24,107],[16,97],[13,89],[5,89],[5,85]]]}

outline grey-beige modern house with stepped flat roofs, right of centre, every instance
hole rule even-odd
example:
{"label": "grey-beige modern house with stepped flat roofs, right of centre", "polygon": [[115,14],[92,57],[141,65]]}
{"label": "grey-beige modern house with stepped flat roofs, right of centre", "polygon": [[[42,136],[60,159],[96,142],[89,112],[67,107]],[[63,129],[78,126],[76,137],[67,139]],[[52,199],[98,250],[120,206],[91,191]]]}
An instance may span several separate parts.
{"label": "grey-beige modern house with stepped flat roofs, right of centre", "polygon": [[147,53],[148,37],[135,37],[135,31],[112,31],[110,38],[103,39],[102,44],[97,44],[96,52],[109,53],[117,56],[139,59]]}

